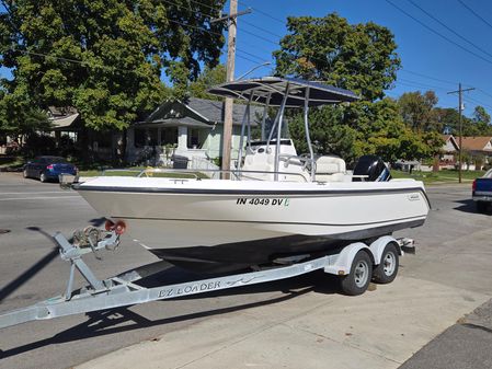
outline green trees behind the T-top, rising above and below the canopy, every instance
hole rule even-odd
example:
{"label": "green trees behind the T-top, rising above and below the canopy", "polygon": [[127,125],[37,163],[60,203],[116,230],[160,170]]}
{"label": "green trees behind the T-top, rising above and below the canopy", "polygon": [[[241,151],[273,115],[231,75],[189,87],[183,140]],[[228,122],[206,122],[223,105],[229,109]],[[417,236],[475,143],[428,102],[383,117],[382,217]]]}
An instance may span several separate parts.
{"label": "green trees behind the T-top, rising above and below the canopy", "polygon": [[[428,154],[421,134],[407,126],[397,103],[384,99],[400,59],[389,30],[374,23],[351,25],[337,14],[289,18],[289,35],[281,42],[276,73],[323,80],[359,93],[351,105],[311,109],[310,136],[317,153],[333,153],[354,162],[364,153],[387,161]],[[300,152],[307,151],[301,114],[291,117],[290,135]]]}

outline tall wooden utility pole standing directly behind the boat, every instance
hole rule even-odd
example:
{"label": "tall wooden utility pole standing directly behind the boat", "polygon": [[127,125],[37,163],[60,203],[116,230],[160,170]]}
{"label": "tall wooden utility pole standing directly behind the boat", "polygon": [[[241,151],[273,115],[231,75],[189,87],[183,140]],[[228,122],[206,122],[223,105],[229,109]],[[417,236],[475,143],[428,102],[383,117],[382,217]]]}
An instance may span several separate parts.
{"label": "tall wooden utility pole standing directly behind the boat", "polygon": [[[227,34],[227,82],[234,80],[234,64],[236,64],[236,31],[237,31],[237,13],[238,0],[230,0],[229,4],[229,30]],[[224,132],[222,132],[222,170],[230,170],[230,154],[231,154],[231,138],[232,138],[232,108],[233,100],[226,97],[224,108]],[[229,178],[229,173],[225,172],[226,178]],[[224,175],[222,175],[224,177]]]}

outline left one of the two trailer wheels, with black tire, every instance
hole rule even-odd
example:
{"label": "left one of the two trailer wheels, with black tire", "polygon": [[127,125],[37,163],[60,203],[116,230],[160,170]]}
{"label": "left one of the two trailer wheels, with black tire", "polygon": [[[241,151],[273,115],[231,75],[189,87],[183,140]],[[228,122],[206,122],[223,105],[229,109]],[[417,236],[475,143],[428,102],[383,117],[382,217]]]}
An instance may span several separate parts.
{"label": "left one of the two trailer wheels, with black tire", "polygon": [[351,273],[342,277],[342,291],[348,296],[362,295],[366,291],[373,275],[373,262],[367,253],[361,250],[352,262]]}

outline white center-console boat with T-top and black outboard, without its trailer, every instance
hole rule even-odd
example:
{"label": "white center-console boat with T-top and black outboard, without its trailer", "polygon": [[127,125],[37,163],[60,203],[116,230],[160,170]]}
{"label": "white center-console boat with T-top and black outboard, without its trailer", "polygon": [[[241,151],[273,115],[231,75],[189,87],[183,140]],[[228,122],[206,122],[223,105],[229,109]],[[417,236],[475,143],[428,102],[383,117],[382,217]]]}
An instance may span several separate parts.
{"label": "white center-console boat with T-top and black outboard, without its trailer", "polygon": [[[270,134],[251,139],[249,108],[236,165],[220,177],[99,176],[75,188],[124,237],[161,260],[199,272],[229,272],[314,257],[355,241],[369,243],[397,230],[422,226],[430,203],[422,182],[391,180],[385,163],[361,158],[353,171],[334,155],[317,157],[309,108],[351,103],[347,90],[291,78],[227,82],[210,93],[276,107]],[[302,108],[309,152],[298,155],[282,137],[286,108]],[[243,142],[244,138],[244,142]],[[184,172],[184,171],[181,171]],[[171,173],[171,174],[170,174]],[[171,176],[169,176],[171,175]]]}

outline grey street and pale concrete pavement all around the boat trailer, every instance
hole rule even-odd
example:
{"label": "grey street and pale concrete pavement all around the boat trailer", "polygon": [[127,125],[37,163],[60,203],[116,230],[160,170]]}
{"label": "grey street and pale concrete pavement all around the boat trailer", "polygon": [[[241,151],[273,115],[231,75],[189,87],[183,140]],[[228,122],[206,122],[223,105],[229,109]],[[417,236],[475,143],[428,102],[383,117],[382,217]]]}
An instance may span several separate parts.
{"label": "grey street and pale concrete pavement all around the boat trailer", "polygon": [[[428,195],[426,224],[398,234],[414,238],[417,253],[401,260],[390,285],[351,298],[314,273],[32,322],[0,332],[0,368],[491,367],[492,354],[480,350],[492,330],[491,215],[474,211],[469,185]],[[0,173],[0,229],[9,231],[0,231],[0,312],[60,293],[69,268],[50,234],[91,223],[102,219],[76,193]],[[87,258],[100,277],[156,261],[129,242],[103,257]],[[163,274],[185,277],[171,267]]]}

